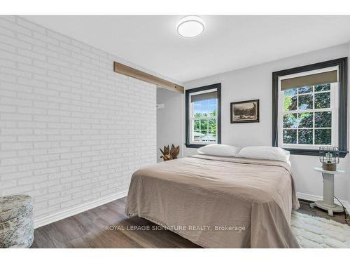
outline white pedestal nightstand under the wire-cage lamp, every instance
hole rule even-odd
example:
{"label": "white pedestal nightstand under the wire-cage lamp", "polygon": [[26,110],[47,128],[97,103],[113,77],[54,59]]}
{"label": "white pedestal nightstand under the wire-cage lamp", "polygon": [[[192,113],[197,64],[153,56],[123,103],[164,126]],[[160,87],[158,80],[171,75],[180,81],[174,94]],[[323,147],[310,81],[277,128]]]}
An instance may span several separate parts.
{"label": "white pedestal nightstand under the wire-cage lamp", "polygon": [[344,170],[337,169],[335,171],[323,170],[320,167],[314,167],[318,173],[323,175],[323,201],[319,200],[315,203],[310,203],[310,207],[328,210],[328,215],[333,216],[333,212],[343,212],[340,205],[334,203],[334,175],[337,173],[345,173]]}

